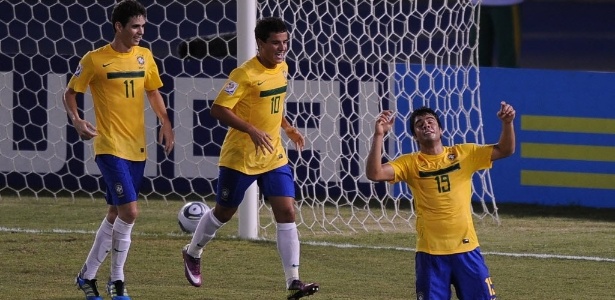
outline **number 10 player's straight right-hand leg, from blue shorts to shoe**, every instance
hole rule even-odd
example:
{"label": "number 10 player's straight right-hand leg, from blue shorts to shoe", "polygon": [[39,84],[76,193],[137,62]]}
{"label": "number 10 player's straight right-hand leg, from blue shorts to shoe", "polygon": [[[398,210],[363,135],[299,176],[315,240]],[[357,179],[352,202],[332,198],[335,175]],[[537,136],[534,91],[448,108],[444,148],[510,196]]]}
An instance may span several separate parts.
{"label": "number 10 player's straight right-hand leg, from blue shorts to shoe", "polygon": [[258,185],[271,203],[277,223],[277,247],[286,277],[287,299],[299,299],[316,293],[317,283],[299,280],[300,245],[295,223],[295,185],[288,165],[263,174]]}

